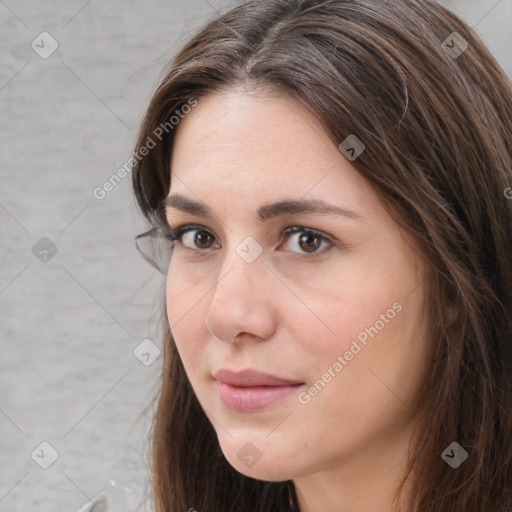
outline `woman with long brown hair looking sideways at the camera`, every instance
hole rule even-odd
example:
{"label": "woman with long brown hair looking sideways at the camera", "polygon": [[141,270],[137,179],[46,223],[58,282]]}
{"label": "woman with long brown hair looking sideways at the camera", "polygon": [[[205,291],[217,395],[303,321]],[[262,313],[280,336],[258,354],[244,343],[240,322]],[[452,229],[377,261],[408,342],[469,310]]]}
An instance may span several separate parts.
{"label": "woman with long brown hair looking sideways at the camera", "polygon": [[510,82],[433,1],[249,0],[193,37],[133,169],[157,511],[510,512],[511,161]]}

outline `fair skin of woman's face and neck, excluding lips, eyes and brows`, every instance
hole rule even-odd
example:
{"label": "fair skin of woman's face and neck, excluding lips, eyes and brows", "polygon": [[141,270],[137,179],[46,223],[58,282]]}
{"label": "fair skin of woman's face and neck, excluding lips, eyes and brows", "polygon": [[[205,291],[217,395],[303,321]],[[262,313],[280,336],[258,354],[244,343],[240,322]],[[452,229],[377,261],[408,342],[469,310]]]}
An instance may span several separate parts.
{"label": "fair skin of woman's face and neck, excluding lips, eyes and brows", "polygon": [[[171,169],[169,195],[200,200],[215,215],[167,211],[172,228],[195,223],[212,234],[205,245],[194,243],[198,231],[176,243],[167,314],[226,459],[253,478],[293,480],[302,512],[388,512],[431,357],[421,321],[426,266],[414,241],[292,98],[241,89],[201,98],[177,129]],[[290,198],[361,217],[256,219],[261,205]],[[336,243],[310,253],[301,233],[282,236],[289,226]],[[236,252],[248,236],[263,249],[252,263]],[[258,412],[222,403],[212,378],[221,367],[298,380],[304,398],[394,303],[401,310],[308,403],[298,393]],[[237,456],[249,442],[261,453],[252,467]]]}

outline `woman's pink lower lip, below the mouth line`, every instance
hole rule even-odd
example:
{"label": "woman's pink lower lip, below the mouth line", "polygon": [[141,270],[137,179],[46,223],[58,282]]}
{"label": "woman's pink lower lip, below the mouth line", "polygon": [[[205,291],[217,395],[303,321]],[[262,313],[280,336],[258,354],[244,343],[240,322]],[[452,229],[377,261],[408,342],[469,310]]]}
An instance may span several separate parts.
{"label": "woman's pink lower lip, below the mouth line", "polygon": [[302,384],[289,386],[239,387],[215,381],[224,405],[237,412],[252,412],[290,396]]}

